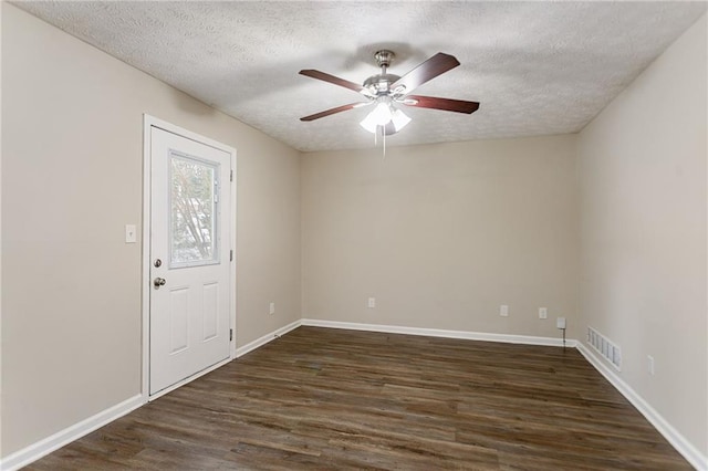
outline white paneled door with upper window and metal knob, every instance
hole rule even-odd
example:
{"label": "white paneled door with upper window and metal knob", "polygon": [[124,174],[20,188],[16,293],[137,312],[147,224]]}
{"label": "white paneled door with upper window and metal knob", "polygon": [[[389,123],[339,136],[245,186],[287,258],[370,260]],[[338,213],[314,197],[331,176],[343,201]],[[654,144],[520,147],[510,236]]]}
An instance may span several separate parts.
{"label": "white paneled door with upper window and metal knob", "polygon": [[231,155],[150,127],[149,394],[230,355]]}

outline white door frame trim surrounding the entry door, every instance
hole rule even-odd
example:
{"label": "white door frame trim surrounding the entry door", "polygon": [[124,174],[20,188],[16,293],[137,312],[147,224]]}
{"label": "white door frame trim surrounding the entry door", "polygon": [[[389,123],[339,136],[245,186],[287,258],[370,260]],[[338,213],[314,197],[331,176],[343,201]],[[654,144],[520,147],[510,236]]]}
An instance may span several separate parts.
{"label": "white door frame trim surrounding the entry door", "polygon": [[[186,137],[191,140],[196,140],[201,144],[206,144],[207,146],[215,147],[217,149],[223,150],[225,153],[231,156],[231,168],[233,169],[233,182],[230,185],[231,190],[231,240],[230,245],[231,250],[233,250],[233,260],[230,263],[229,274],[230,274],[230,283],[229,283],[229,324],[233,336],[231,337],[231,342],[229,344],[229,358],[212,365],[211,367],[197,373],[194,376],[190,376],[162,391],[150,396],[149,395],[149,342],[150,342],[150,182],[152,182],[152,155],[150,155],[150,146],[152,146],[152,127],[157,127],[164,130],[167,130],[173,134],[177,134],[179,136]],[[147,402],[153,399],[157,399],[159,396],[165,395],[178,387],[185,385],[186,383],[191,381],[199,376],[202,376],[236,358],[236,149],[233,147],[229,147],[225,144],[210,139],[208,137],[201,136],[199,134],[192,133],[190,130],[184,129],[174,124],[164,122],[148,114],[143,115],[143,281],[142,281],[142,294],[143,294],[143,375],[142,375],[142,385],[140,391],[143,395],[143,401]]]}

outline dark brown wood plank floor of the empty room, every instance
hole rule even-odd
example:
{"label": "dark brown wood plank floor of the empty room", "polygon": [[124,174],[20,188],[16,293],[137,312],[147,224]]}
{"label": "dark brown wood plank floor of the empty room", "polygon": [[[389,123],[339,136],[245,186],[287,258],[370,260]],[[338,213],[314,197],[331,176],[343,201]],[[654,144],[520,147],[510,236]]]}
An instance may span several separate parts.
{"label": "dark brown wood plank floor of the empty room", "polygon": [[575,349],[300,327],[30,470],[683,470]]}

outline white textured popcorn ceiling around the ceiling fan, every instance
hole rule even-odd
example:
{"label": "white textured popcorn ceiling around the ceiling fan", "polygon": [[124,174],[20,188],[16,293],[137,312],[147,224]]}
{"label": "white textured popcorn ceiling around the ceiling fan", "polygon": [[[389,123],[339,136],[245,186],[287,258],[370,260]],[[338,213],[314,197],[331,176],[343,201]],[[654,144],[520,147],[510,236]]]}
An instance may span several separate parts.
{"label": "white textured popcorn ceiling around the ceiling fan", "polygon": [[[371,108],[301,116],[360,95],[373,53],[403,75],[437,52],[460,66],[417,94],[480,102],[472,115],[404,111],[387,145],[573,133],[706,11],[705,2],[15,2],[135,67],[301,150],[371,147]],[[656,109],[656,113],[662,113]]]}

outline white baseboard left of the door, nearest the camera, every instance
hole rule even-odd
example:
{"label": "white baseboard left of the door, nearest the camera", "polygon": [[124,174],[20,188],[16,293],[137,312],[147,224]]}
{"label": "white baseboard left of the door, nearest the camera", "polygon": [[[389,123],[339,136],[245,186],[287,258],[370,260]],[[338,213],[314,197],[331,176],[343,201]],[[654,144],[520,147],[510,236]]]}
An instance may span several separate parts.
{"label": "white baseboard left of the door, nearest the camera", "polygon": [[60,430],[51,437],[40,440],[29,447],[18,450],[14,453],[8,454],[0,461],[0,470],[14,471],[22,467],[30,464],[33,461],[39,460],[45,454],[51,453],[54,450],[62,448],[65,444],[71,443],[81,437],[91,433],[92,431],[105,426],[113,420],[125,416],[126,414],[143,406],[143,395],[135,395],[129,399],[124,400],[121,404],[116,404],[95,416],[88,417],[81,422],[74,423],[71,427]]}

